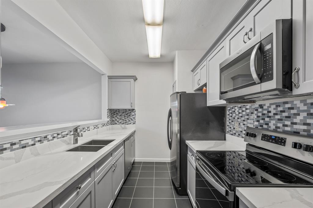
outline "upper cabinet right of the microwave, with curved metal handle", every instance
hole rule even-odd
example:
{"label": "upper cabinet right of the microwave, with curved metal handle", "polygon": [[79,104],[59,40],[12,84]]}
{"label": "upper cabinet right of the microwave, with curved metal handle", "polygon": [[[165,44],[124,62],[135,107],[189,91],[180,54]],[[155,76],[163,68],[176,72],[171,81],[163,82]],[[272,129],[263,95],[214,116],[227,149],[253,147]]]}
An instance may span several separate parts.
{"label": "upper cabinet right of the microwave, with curved metal handle", "polygon": [[313,92],[313,1],[292,3],[294,83],[292,94]]}

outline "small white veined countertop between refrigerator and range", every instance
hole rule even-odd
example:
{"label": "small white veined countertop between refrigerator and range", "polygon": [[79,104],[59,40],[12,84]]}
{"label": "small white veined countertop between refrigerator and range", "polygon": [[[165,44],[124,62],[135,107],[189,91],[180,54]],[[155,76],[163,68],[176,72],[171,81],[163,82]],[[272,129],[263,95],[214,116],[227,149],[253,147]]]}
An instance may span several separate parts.
{"label": "small white veined countertop between refrigerator and range", "polygon": [[244,151],[246,148],[230,141],[186,141],[186,144],[195,151]]}

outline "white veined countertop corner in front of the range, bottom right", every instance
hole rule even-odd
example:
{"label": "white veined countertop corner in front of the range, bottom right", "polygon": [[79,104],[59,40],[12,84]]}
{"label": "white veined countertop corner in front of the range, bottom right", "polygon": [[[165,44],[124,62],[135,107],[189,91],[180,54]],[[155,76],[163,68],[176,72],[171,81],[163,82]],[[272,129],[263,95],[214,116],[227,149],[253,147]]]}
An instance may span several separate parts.
{"label": "white veined countertop corner in front of the range, bottom right", "polygon": [[313,188],[236,188],[249,208],[312,208]]}

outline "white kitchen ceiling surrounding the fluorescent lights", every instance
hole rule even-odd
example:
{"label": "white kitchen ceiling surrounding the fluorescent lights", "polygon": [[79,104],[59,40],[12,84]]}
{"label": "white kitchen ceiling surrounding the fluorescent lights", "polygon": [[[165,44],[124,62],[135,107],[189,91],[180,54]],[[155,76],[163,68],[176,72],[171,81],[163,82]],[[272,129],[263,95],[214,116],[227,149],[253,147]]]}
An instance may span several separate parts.
{"label": "white kitchen ceiling surrounding the fluorescent lights", "polygon": [[165,0],[157,59],[148,57],[141,0],[58,2],[112,62],[172,62],[177,50],[208,49],[246,0]]}

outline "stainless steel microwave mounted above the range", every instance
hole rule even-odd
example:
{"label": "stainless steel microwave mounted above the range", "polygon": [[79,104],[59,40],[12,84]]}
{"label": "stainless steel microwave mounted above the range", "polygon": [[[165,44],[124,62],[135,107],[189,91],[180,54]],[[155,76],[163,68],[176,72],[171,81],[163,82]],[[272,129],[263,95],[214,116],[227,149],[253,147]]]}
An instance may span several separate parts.
{"label": "stainless steel microwave mounted above the range", "polygon": [[292,92],[292,20],[279,19],[219,65],[220,99],[254,100]]}

